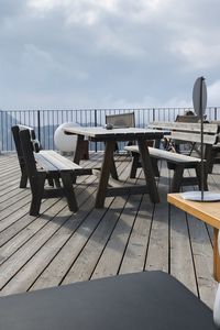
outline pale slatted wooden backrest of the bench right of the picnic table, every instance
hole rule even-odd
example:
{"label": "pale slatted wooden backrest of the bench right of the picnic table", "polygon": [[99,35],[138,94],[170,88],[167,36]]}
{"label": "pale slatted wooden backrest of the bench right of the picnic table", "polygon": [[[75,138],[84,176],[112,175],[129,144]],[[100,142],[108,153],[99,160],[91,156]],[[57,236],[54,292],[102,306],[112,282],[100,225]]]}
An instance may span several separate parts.
{"label": "pale slatted wooden backrest of the bench right of the picnic table", "polygon": [[[200,123],[186,123],[186,122],[152,122],[148,124],[151,129],[168,130],[170,131],[169,138],[173,140],[187,141],[187,142],[201,142],[201,124]],[[218,125],[205,123],[204,124],[204,143],[216,144],[218,142]]]}

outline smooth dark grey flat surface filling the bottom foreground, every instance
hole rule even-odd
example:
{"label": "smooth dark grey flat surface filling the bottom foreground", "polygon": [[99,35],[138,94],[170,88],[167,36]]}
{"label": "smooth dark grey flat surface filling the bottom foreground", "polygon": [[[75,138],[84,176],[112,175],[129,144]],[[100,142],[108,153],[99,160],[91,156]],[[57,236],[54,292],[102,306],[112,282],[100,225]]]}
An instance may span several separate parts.
{"label": "smooth dark grey flat surface filling the bottom foreground", "polygon": [[163,272],[0,298],[2,330],[215,330],[212,311]]}

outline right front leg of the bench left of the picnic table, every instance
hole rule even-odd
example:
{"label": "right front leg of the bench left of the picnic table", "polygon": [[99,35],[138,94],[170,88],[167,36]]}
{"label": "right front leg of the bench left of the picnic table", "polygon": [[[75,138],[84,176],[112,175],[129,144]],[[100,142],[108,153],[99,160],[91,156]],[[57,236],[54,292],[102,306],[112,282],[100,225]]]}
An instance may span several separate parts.
{"label": "right front leg of the bench left of the picnic table", "polygon": [[62,170],[61,176],[69,210],[72,212],[76,212],[78,210],[78,206],[73,187],[73,173],[68,170]]}

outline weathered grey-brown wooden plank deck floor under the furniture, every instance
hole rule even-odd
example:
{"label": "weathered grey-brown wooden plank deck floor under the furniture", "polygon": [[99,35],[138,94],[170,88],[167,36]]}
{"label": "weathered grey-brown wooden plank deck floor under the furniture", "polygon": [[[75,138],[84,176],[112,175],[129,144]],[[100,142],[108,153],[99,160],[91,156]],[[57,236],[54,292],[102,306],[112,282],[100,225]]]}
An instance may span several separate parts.
{"label": "weathered grey-brown wooden plank deck floor under the furniture", "polygon": [[[101,153],[82,166],[96,166]],[[117,158],[127,179],[129,157]],[[90,164],[89,164],[90,163]],[[30,189],[20,189],[15,154],[0,155],[0,289],[1,295],[64,285],[122,273],[163,270],[183,282],[212,308],[212,229],[166,202],[169,175],[161,167],[161,202],[147,195],[107,198],[95,209],[97,177],[77,178],[79,211],[69,212],[64,199],[42,204],[41,217],[29,216]],[[135,182],[143,182],[139,172]],[[220,167],[209,176],[220,186]],[[189,189],[189,188],[188,188]],[[215,207],[215,204],[213,204]]]}

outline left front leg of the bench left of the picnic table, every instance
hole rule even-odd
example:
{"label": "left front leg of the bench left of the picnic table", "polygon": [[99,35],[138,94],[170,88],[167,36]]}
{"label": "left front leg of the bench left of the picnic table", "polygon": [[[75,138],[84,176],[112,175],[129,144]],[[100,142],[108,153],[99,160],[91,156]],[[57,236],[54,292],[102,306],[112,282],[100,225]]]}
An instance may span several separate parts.
{"label": "left front leg of the bench left of the picnic table", "polygon": [[44,185],[45,185],[46,174],[38,173],[37,180],[31,184],[32,189],[32,201],[30,208],[30,216],[38,216],[41,202],[44,194]]}

